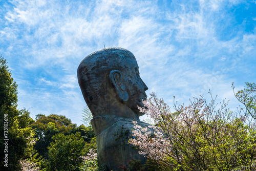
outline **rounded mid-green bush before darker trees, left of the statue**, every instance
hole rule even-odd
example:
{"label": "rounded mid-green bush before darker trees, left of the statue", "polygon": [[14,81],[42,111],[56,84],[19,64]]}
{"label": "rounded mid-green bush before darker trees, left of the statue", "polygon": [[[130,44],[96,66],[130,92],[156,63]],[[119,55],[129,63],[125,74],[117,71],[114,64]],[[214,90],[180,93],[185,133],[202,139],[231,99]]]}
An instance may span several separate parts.
{"label": "rounded mid-green bush before darker trees, left of the statue", "polygon": [[48,170],[79,170],[84,154],[84,140],[81,134],[57,134],[49,148]]}

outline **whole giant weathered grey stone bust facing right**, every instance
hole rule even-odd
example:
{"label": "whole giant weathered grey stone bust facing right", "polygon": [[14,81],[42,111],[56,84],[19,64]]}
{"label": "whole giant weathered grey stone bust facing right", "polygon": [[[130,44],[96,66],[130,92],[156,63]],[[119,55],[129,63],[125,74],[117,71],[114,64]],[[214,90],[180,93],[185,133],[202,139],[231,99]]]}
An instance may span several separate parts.
{"label": "whole giant weathered grey stone bust facing right", "polygon": [[92,112],[91,120],[97,141],[99,165],[120,170],[132,159],[145,162],[128,140],[133,122],[141,126],[138,106],[144,106],[148,89],[139,75],[135,56],[128,50],[112,47],[93,52],[84,58],[77,70],[83,98]]}

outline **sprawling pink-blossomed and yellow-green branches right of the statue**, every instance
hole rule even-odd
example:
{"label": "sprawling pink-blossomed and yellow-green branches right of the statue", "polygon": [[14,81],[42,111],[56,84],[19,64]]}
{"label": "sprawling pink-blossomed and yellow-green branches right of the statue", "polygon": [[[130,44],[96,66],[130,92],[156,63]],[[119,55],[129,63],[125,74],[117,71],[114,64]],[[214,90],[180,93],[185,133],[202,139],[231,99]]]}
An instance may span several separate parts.
{"label": "sprawling pink-blossomed and yellow-green branches right of the statue", "polygon": [[151,94],[141,109],[156,126],[134,126],[130,143],[162,170],[255,170],[256,127],[234,116],[223,101],[216,109],[201,97],[170,112],[162,99]]}

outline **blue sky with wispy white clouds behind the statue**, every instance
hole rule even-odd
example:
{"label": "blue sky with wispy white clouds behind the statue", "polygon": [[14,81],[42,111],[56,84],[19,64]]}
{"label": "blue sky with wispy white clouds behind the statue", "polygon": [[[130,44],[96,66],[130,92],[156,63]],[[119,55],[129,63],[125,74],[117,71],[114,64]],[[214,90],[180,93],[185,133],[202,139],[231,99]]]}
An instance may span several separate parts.
{"label": "blue sky with wispy white clouds behind the statue", "polygon": [[141,78],[173,106],[203,95],[230,100],[256,78],[256,1],[0,1],[0,53],[18,84],[18,108],[81,124],[76,71],[88,54],[122,47]]}

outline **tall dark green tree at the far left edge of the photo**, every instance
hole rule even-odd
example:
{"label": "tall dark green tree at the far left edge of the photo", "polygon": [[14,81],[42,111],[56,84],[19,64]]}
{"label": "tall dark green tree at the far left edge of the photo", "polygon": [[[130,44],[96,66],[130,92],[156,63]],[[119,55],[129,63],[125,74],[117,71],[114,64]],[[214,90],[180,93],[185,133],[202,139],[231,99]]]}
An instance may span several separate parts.
{"label": "tall dark green tree at the far left edge of the photo", "polygon": [[[28,145],[33,140],[33,130],[29,124],[33,122],[30,113],[27,110],[17,110],[17,84],[8,70],[7,61],[0,56],[0,136],[1,152],[3,159],[8,154],[8,169],[20,170],[19,161],[29,158],[33,146]],[[4,127],[4,124],[6,127]],[[6,131],[6,132],[4,132]],[[4,133],[6,135],[4,136]],[[5,142],[8,143],[8,153],[4,153],[6,148]],[[4,161],[1,160],[1,168],[4,168]]]}

